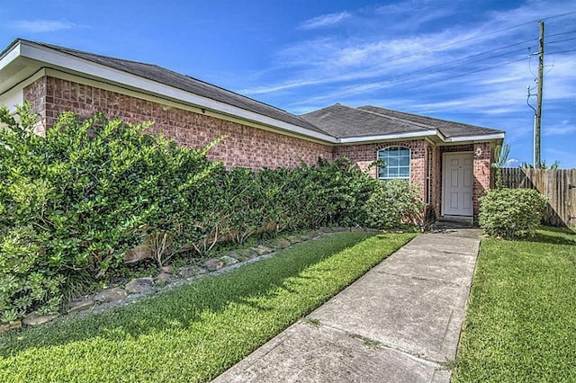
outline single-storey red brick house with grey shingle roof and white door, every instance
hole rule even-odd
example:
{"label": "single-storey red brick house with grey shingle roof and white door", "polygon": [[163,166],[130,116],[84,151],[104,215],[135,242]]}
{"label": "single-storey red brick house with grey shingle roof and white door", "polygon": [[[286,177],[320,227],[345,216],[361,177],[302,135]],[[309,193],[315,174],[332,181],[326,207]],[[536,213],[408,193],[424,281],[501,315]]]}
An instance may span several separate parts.
{"label": "single-storey red brick house with grey shingle roof and white door", "polygon": [[[190,76],[29,40],[0,54],[0,104],[31,102],[43,134],[62,111],[153,121],[179,145],[212,148],[227,167],[293,167],[347,156],[383,180],[418,185],[430,217],[470,218],[491,187],[504,132],[375,106],[341,104],[297,116]],[[369,165],[383,159],[385,167]]]}

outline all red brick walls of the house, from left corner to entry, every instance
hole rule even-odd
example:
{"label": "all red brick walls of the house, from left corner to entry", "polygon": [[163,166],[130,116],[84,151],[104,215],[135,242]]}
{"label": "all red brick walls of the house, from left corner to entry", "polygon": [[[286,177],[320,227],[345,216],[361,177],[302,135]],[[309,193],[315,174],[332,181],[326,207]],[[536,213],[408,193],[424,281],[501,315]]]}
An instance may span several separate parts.
{"label": "all red brick walls of the house, from left corner to entry", "polygon": [[[225,135],[228,138],[213,147],[209,157],[221,160],[227,167],[274,169],[299,166],[302,161],[309,165],[315,164],[319,157],[332,160],[347,156],[362,170],[367,171],[368,166],[376,160],[380,149],[392,146],[409,147],[410,181],[419,185],[423,200],[427,193],[427,151],[431,151],[433,165],[429,208],[434,209],[437,217],[441,212],[443,153],[473,151],[474,215],[478,214],[478,199],[490,188],[491,147],[488,143],[435,147],[425,140],[408,140],[330,147],[50,76],[42,77],[27,86],[24,89],[24,99],[31,102],[32,111],[40,115],[36,127],[39,134],[51,127],[62,111],[74,111],[81,117],[103,111],[109,118],[118,117],[132,123],[152,120],[155,123],[150,129],[151,132],[163,131],[167,138],[173,138],[176,143],[186,147],[203,147],[213,139]],[[370,170],[370,174],[376,176],[375,167]]]}

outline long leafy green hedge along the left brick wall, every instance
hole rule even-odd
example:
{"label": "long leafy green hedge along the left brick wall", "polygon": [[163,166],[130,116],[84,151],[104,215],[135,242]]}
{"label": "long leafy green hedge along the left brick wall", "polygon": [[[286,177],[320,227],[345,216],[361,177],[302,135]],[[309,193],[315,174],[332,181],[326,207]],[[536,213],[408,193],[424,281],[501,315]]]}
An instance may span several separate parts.
{"label": "long leafy green hedge along the left brick wall", "polygon": [[162,265],[265,229],[363,226],[378,184],[347,159],[227,171],[206,158],[218,140],[178,147],[148,124],[73,113],[42,138],[28,105],[18,115],[0,109],[0,323],[57,311],[143,242]]}

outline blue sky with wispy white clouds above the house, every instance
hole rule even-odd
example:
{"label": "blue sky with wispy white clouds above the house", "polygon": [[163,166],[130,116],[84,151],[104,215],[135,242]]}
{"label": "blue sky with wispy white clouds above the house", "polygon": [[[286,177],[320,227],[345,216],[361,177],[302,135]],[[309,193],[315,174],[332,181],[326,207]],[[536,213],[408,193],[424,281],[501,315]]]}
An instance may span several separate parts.
{"label": "blue sky with wispy white clouds above the house", "polygon": [[373,104],[506,130],[509,165],[532,162],[544,20],[542,157],[576,167],[575,0],[0,0],[0,18],[3,47],[157,64],[296,114]]}

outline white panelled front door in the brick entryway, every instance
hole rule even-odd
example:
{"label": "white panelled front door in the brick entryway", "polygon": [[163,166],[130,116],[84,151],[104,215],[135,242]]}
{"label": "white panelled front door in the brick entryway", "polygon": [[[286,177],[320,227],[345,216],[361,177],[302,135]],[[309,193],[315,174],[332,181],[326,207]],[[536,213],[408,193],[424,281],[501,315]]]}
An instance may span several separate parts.
{"label": "white panelled front door in the brick entryway", "polygon": [[473,215],[473,154],[445,153],[443,158],[444,215]]}

